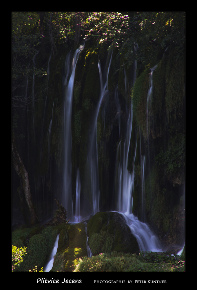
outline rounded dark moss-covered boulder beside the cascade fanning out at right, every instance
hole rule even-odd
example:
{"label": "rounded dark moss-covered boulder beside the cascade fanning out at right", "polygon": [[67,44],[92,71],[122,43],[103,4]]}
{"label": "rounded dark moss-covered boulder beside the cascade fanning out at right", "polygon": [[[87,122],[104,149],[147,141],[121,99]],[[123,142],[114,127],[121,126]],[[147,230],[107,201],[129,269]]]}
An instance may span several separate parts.
{"label": "rounded dark moss-covered boulder beside the cascade fanning out at right", "polygon": [[102,251],[139,253],[137,240],[120,213],[96,213],[87,224],[87,235],[93,254],[94,251],[95,254]]}

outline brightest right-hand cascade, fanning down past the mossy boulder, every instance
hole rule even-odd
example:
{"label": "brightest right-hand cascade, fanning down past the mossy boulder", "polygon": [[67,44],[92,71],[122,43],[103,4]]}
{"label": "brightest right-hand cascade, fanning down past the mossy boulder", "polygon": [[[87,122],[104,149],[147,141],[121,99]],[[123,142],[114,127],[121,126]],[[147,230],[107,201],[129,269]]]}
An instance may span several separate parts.
{"label": "brightest right-hand cascade, fanning down past the mossy boulder", "polygon": [[[155,67],[156,68],[156,67]],[[154,69],[155,69],[154,68]],[[134,65],[134,69],[136,70],[136,64]],[[136,72],[134,72],[133,79],[136,79]],[[152,84],[152,83],[151,83]],[[150,88],[151,94],[152,86]],[[127,81],[125,74],[125,92],[127,91]],[[151,95],[150,95],[151,96]],[[148,102],[148,101],[147,101]],[[132,213],[133,206],[133,191],[134,191],[134,178],[135,178],[135,157],[136,157],[136,147],[137,142],[135,144],[135,152],[133,157],[133,167],[132,172],[129,173],[127,170],[127,160],[131,139],[131,131],[132,131],[132,104],[130,105],[130,113],[127,121],[127,133],[123,146],[123,157],[120,157],[120,162],[118,165],[118,203],[117,209],[124,217],[125,220],[131,229],[132,234],[136,237],[138,241],[138,245],[141,251],[159,251],[161,249],[160,241],[152,233],[149,226],[138,220],[136,216]],[[119,148],[121,148],[119,144]],[[119,149],[120,150],[120,149]],[[120,152],[121,154],[121,152]],[[141,176],[142,176],[142,189],[144,194],[144,178],[145,178],[145,157],[141,156]],[[144,199],[144,197],[143,197]]]}

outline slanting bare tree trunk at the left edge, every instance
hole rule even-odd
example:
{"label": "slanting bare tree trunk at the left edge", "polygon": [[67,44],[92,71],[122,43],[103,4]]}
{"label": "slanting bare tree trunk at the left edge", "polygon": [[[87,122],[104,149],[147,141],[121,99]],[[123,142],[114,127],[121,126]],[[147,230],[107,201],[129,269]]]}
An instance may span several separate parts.
{"label": "slanting bare tree trunk at the left edge", "polygon": [[[29,185],[29,178],[28,178],[28,172],[25,169],[25,166],[23,165],[23,162],[19,156],[19,153],[17,152],[16,142],[15,142],[15,136],[14,133],[12,134],[12,157],[13,157],[13,164],[14,168],[20,178],[21,181],[21,188],[23,188],[25,193],[25,200],[28,204],[28,208],[31,215],[31,224],[37,224],[39,223],[39,218],[36,213],[35,206],[32,202],[32,196],[30,193],[30,185]],[[21,189],[19,189],[19,195],[21,199]]]}

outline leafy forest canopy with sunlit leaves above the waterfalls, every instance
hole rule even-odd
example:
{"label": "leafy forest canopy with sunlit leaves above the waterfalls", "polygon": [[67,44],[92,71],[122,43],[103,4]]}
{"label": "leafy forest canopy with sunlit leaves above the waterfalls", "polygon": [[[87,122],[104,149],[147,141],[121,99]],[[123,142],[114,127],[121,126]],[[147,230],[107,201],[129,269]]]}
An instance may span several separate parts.
{"label": "leafy forest canopy with sunlit leaves above the waterfalls", "polygon": [[[29,61],[39,49],[45,58],[46,46],[55,54],[59,45],[79,45],[83,39],[94,39],[97,45],[126,50],[128,64],[136,59],[138,69],[152,61],[154,52],[161,55],[169,45],[175,58],[183,57],[185,48],[184,12],[13,12],[12,13],[12,77],[16,81],[31,75]],[[139,49],[133,51],[138,43]],[[46,74],[41,67],[40,76]],[[20,82],[19,82],[20,83]]]}

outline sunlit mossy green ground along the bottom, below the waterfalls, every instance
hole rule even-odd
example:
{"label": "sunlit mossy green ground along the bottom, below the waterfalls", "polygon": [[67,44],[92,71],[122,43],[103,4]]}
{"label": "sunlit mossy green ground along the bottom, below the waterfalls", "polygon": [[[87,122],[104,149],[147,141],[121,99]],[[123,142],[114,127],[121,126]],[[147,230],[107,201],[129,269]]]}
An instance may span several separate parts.
{"label": "sunlit mossy green ground along the bottom, below the waterfalls", "polygon": [[[99,233],[92,233],[92,244],[94,249],[102,251],[99,255],[94,255],[92,258],[87,257],[86,249],[86,234],[84,224],[61,224],[55,227],[35,228],[35,229],[21,229],[13,232],[13,245],[23,247],[26,243],[26,236],[30,237],[27,243],[27,255],[21,263],[20,268],[15,271],[29,271],[37,266],[41,269],[46,263],[46,258],[52,251],[56,234],[60,233],[58,251],[54,256],[54,264],[51,272],[177,272],[185,271],[185,250],[182,255],[168,256],[165,253],[141,252],[139,256],[134,253],[126,252],[124,241],[121,240],[121,232],[118,231],[119,244],[116,245],[114,251],[113,237],[110,234],[105,224],[108,221],[110,225],[111,218],[115,213],[99,213],[94,223],[98,223],[96,231]],[[108,215],[108,216],[107,216]],[[116,217],[117,219],[117,217]],[[91,227],[90,227],[91,228]],[[102,230],[100,230],[100,228]],[[108,228],[113,231],[112,224]],[[116,228],[117,229],[117,228]],[[32,236],[31,236],[32,235]],[[95,243],[96,238],[96,243]],[[100,244],[99,244],[99,238]],[[124,238],[122,236],[122,238]],[[117,238],[115,239],[117,242]],[[122,242],[122,244],[120,244]],[[91,243],[90,243],[91,244]],[[25,244],[26,245],[26,244]],[[115,250],[119,247],[118,250]],[[123,249],[123,251],[121,251]],[[95,254],[96,254],[95,250]]]}

